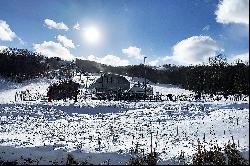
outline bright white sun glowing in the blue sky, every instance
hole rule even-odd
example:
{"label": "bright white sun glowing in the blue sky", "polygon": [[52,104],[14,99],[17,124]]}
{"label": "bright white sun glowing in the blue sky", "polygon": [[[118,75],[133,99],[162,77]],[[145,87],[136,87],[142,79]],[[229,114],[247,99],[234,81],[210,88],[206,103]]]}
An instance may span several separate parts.
{"label": "bright white sun glowing in the blue sky", "polygon": [[100,31],[97,27],[91,26],[84,30],[84,38],[90,44],[95,44],[100,41]]}

